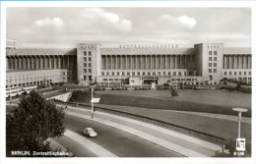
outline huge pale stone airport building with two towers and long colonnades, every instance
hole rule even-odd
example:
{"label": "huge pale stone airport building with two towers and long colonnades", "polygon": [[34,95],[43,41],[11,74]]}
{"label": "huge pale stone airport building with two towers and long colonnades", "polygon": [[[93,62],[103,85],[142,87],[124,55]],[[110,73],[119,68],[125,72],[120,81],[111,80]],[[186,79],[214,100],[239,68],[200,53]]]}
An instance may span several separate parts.
{"label": "huge pale stone airport building with two towers and long colonnades", "polygon": [[[15,42],[15,41],[14,41]],[[129,84],[251,82],[251,48],[223,43],[120,45],[78,43],[73,49],[6,47],[6,87],[50,82],[123,82]]]}

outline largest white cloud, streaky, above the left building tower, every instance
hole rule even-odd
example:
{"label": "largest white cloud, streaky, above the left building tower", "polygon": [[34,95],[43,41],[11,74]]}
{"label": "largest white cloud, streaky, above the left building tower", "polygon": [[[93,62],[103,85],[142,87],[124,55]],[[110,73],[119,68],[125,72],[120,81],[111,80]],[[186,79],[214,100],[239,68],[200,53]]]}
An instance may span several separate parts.
{"label": "largest white cloud, streaky, above the left building tower", "polygon": [[132,30],[132,22],[126,19],[121,19],[118,15],[106,12],[99,8],[87,8],[80,12],[80,16],[86,22],[86,25],[91,28],[106,29],[106,31],[123,31],[129,32]]}

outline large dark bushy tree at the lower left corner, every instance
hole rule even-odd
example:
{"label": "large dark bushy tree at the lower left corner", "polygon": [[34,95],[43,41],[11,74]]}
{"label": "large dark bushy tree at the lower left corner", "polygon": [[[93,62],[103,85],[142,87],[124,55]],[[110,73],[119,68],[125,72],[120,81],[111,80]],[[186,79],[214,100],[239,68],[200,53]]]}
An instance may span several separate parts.
{"label": "large dark bushy tree at the lower left corner", "polygon": [[65,131],[63,108],[46,100],[39,92],[31,91],[18,107],[7,114],[6,153],[19,151],[48,151],[48,137],[61,137]]}

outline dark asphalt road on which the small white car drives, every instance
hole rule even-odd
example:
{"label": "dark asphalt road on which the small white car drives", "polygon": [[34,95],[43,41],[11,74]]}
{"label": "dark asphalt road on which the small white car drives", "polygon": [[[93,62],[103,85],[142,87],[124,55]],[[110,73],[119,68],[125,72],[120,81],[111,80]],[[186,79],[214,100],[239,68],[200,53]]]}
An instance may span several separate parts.
{"label": "dark asphalt road on which the small white car drives", "polygon": [[[170,151],[141,137],[74,116],[66,115],[67,129],[83,136],[83,130],[93,128],[97,137],[87,137],[98,145],[119,157],[179,157],[180,154]],[[64,145],[65,146],[65,145]]]}

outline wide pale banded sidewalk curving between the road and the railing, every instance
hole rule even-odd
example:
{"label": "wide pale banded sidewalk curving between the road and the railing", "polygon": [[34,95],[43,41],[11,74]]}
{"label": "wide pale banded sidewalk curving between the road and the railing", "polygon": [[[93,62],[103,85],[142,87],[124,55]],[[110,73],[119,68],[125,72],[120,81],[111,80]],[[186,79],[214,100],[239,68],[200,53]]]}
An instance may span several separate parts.
{"label": "wide pale banded sidewalk curving between the road and the railing", "polygon": [[[69,115],[91,119],[89,110],[69,106],[67,111]],[[120,116],[96,112],[94,121],[142,137],[189,157],[213,156],[216,150],[222,150],[220,145]]]}

